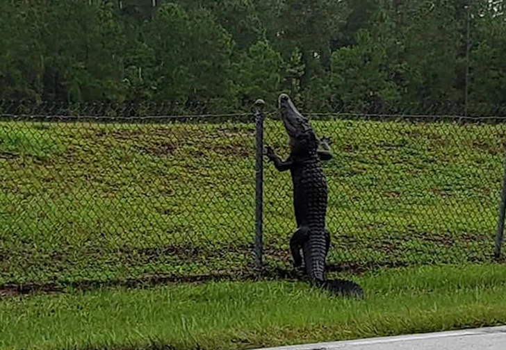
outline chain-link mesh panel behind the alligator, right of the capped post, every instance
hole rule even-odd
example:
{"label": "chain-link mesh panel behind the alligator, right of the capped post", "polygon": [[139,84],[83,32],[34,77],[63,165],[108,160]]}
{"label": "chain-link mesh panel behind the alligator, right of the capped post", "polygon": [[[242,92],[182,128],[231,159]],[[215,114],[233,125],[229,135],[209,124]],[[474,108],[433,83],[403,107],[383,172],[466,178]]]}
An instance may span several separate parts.
{"label": "chain-link mesh panel behind the alligator, right of the capped post", "polygon": [[[311,119],[318,137],[334,140],[334,158],[323,162],[331,271],[492,260],[505,124]],[[281,122],[266,122],[265,134],[288,155]],[[295,231],[291,177],[269,164],[264,178],[266,261],[286,266]]]}

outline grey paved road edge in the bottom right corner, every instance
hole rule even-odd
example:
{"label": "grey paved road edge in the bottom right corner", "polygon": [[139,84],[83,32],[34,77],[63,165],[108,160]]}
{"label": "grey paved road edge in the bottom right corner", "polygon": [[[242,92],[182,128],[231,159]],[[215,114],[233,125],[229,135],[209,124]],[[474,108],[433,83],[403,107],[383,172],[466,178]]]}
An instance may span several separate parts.
{"label": "grey paved road edge in the bottom right corner", "polygon": [[506,326],[262,350],[506,350]]}

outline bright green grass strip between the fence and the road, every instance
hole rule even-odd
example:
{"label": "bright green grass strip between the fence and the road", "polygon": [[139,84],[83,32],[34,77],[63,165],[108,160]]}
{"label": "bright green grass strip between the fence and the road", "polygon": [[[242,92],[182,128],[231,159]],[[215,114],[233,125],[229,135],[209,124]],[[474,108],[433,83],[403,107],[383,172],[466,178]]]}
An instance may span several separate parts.
{"label": "bright green grass strip between the fence and the road", "polygon": [[0,348],[247,349],[506,323],[504,266],[354,279],[364,301],[279,281],[13,297],[0,301]]}

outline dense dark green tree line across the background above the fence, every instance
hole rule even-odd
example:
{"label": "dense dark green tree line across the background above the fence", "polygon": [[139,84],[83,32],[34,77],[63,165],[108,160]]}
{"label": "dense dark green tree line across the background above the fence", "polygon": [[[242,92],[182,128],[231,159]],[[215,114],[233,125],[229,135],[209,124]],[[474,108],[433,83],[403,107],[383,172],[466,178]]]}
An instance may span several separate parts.
{"label": "dense dark green tree line across the background above the fence", "polygon": [[4,0],[0,99],[230,113],[288,92],[312,112],[495,113],[505,2]]}

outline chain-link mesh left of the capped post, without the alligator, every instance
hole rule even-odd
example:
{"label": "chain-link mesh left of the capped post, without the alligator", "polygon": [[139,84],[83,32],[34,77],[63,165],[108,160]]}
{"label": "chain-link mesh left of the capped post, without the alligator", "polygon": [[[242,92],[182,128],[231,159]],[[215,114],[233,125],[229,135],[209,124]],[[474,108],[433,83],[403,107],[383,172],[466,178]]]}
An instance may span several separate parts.
{"label": "chain-link mesh left of the capped post, without the alligator", "polygon": [[0,284],[250,271],[243,117],[1,122]]}

